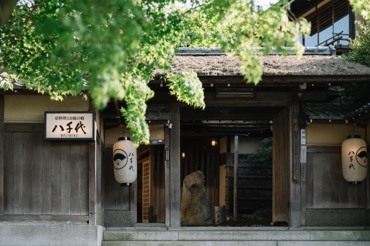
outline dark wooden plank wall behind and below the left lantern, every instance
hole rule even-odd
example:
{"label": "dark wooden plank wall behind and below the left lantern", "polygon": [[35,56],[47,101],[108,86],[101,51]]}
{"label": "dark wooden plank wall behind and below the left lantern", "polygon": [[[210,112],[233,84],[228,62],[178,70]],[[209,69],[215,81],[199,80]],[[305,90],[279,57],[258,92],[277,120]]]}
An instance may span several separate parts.
{"label": "dark wooden plank wall behind and below the left lantern", "polygon": [[105,210],[119,209],[130,210],[130,187],[123,187],[114,178],[113,146],[105,146],[104,153],[105,185],[104,208]]}

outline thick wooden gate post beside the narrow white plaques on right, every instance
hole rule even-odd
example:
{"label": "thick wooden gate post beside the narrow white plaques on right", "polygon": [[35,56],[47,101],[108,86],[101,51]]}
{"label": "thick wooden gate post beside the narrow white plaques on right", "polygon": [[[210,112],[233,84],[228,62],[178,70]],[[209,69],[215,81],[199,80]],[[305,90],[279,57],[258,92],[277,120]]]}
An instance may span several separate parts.
{"label": "thick wooden gate post beside the narrow white plaques on right", "polygon": [[299,102],[289,103],[289,174],[288,209],[289,226],[301,225],[300,207],[300,141],[299,141]]}

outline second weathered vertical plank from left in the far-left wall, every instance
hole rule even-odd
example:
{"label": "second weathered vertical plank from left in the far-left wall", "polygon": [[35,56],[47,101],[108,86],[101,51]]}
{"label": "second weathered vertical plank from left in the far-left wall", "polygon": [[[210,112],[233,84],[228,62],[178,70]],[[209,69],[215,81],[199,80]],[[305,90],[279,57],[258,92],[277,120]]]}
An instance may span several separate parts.
{"label": "second weathered vertical plank from left in the far-left wall", "polygon": [[23,214],[23,133],[14,133],[13,209]]}

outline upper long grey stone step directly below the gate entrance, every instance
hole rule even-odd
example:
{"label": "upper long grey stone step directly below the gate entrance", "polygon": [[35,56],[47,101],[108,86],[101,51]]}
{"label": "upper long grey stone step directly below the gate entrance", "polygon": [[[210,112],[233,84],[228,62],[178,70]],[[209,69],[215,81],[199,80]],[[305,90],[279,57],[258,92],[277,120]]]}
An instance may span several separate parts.
{"label": "upper long grey stone step directly below the gate entrance", "polygon": [[[196,228],[195,228],[196,229]],[[370,230],[105,230],[103,241],[370,241]],[[370,242],[368,242],[370,245]]]}

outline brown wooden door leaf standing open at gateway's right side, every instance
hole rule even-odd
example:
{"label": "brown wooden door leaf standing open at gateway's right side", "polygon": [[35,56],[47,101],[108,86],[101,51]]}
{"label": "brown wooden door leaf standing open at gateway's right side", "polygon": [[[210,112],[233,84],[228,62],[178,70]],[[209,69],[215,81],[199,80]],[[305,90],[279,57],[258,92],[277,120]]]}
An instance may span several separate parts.
{"label": "brown wooden door leaf standing open at gateway's right side", "polygon": [[272,221],[288,221],[287,109],[274,115],[272,147]]}

